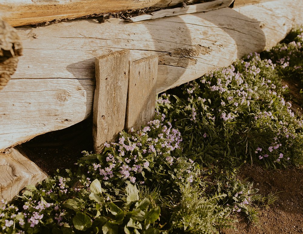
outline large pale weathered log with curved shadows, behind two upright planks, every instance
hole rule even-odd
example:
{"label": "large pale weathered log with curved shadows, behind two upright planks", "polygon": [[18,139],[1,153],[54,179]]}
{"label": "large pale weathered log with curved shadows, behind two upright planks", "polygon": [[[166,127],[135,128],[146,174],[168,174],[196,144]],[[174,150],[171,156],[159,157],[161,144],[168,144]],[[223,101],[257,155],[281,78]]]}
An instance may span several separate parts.
{"label": "large pale weathered log with curved shadows, behind two upright planks", "polygon": [[274,46],[302,21],[303,1],[276,0],[135,23],[86,19],[18,28],[23,55],[0,91],[0,152],[87,118],[99,55],[123,48],[132,61],[158,55],[159,93]]}

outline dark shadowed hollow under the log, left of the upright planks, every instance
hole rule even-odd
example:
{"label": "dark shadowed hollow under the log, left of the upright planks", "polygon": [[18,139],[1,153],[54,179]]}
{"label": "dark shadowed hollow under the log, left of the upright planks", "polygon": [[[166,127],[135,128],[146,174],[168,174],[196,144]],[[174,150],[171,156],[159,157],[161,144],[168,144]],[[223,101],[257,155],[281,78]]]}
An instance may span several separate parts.
{"label": "dark shadowed hollow under the log, left of the upright planks", "polygon": [[83,150],[93,150],[92,119],[71,127],[45,133],[23,143],[26,156],[48,175],[57,169],[75,168],[75,163],[83,157]]}

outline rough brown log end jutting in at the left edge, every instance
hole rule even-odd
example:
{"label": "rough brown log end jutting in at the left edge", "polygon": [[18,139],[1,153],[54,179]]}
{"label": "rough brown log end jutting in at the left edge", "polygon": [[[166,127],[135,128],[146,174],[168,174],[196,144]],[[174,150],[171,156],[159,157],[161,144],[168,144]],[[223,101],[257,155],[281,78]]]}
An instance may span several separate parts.
{"label": "rough brown log end jutting in at the left edge", "polygon": [[22,45],[17,30],[7,22],[0,20],[0,90],[14,74]]}

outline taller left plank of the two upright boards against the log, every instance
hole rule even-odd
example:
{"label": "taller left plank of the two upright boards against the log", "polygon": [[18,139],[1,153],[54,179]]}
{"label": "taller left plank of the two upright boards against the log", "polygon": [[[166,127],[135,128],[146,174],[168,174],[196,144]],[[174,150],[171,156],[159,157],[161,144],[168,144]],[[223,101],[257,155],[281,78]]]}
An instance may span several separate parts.
{"label": "taller left plank of the two upright boards against the log", "polygon": [[129,50],[96,58],[93,139],[96,153],[105,142],[114,142],[124,129],[128,88]]}

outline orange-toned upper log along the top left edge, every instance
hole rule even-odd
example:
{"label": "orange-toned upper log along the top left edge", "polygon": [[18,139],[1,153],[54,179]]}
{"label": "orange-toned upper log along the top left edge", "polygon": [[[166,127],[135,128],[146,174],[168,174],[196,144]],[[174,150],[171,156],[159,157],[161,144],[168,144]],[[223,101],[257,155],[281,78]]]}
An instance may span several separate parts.
{"label": "orange-toned upper log along the top left edge", "polygon": [[183,0],[2,0],[0,18],[15,27],[147,7],[165,8],[181,2]]}

